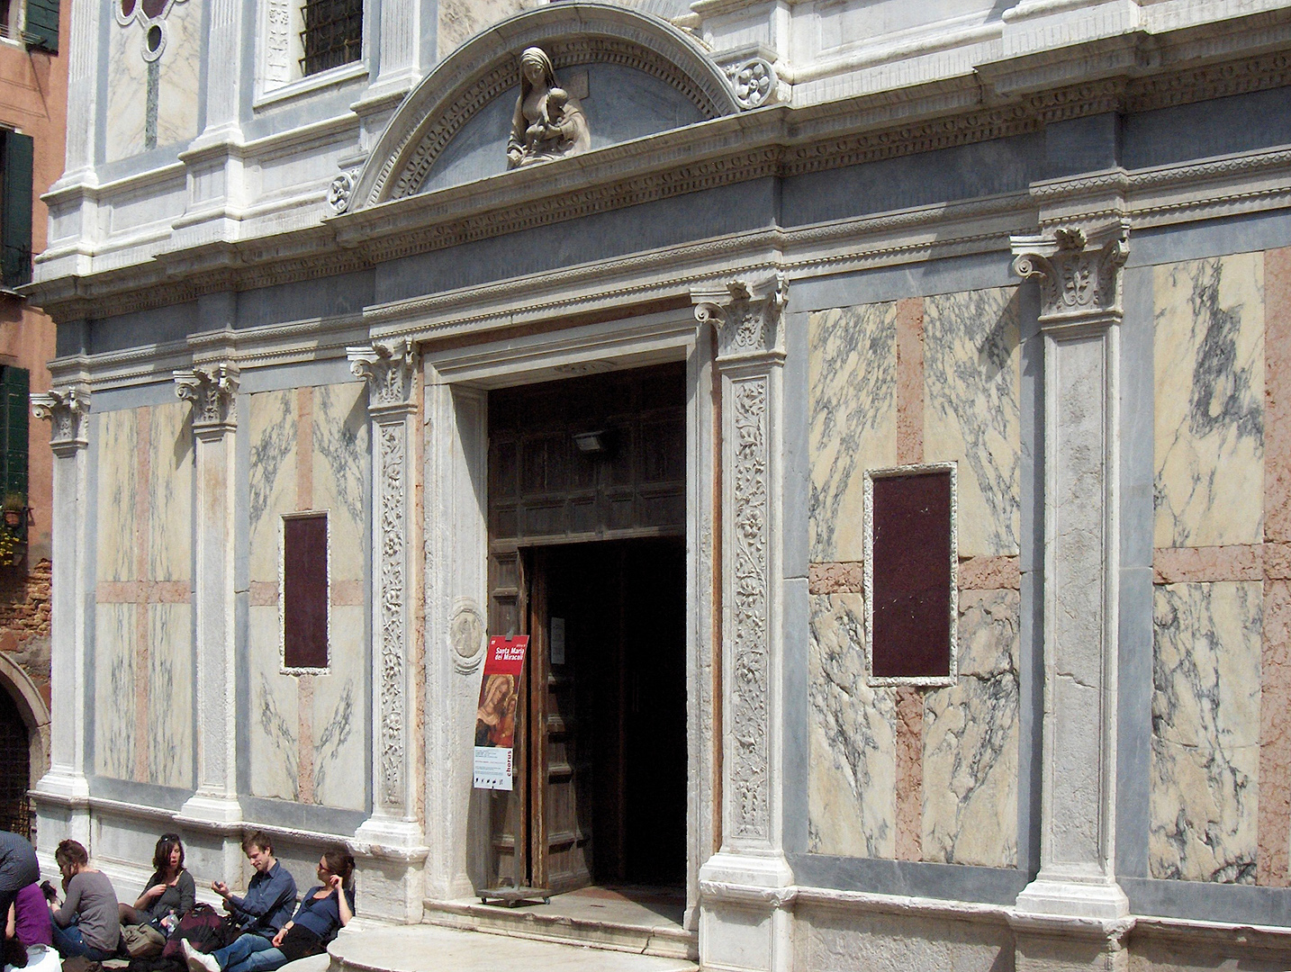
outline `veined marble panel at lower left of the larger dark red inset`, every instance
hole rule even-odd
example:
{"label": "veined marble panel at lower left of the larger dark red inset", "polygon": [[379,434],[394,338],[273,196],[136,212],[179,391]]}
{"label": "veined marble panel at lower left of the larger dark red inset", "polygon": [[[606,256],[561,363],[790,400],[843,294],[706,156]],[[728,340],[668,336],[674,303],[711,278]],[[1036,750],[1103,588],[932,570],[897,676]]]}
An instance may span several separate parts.
{"label": "veined marble panel at lower left of the larger dark red inset", "polygon": [[865,684],[865,602],[859,594],[811,598],[812,853],[896,856],[896,702]]}

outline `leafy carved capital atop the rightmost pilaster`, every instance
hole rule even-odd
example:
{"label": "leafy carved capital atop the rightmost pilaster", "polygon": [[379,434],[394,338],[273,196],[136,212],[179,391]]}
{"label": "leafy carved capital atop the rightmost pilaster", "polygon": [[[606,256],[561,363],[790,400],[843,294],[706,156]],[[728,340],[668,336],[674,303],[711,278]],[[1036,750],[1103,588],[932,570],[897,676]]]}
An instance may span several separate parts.
{"label": "leafy carved capital atop the rightmost pilaster", "polygon": [[1064,227],[1013,236],[1013,272],[1041,284],[1041,324],[1106,324],[1121,319],[1121,270],[1130,254],[1124,222],[1086,232]]}

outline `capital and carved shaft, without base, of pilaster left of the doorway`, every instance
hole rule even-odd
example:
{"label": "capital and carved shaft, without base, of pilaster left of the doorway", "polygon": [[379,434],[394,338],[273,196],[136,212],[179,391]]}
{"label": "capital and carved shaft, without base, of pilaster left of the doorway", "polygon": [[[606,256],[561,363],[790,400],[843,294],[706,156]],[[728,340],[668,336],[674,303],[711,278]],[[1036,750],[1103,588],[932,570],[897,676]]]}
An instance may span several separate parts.
{"label": "capital and carved shaft, without base, of pilaster left of the doorway", "polygon": [[412,413],[413,349],[394,345],[347,349],[350,370],[368,383],[373,423],[376,506],[377,803],[395,815],[408,805],[408,417]]}

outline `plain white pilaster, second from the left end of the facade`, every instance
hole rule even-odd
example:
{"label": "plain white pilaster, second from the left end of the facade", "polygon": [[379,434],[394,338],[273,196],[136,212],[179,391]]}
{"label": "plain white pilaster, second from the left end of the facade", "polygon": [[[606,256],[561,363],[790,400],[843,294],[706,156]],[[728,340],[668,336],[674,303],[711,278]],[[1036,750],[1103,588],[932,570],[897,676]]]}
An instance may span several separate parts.
{"label": "plain white pilaster, second from the left end of the facade", "polygon": [[234,582],[238,367],[177,370],[174,394],[192,403],[194,614],[198,675],[198,786],[181,817],[229,824],[238,803],[236,592]]}

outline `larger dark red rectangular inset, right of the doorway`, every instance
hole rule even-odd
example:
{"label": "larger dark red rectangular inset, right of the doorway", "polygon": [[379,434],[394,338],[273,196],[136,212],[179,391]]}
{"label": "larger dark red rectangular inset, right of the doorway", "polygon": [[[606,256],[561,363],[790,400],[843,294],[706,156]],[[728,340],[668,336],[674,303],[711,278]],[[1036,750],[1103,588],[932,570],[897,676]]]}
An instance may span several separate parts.
{"label": "larger dark red rectangular inset, right of the doorway", "polygon": [[874,479],[875,678],[950,674],[950,471]]}

